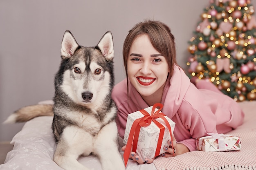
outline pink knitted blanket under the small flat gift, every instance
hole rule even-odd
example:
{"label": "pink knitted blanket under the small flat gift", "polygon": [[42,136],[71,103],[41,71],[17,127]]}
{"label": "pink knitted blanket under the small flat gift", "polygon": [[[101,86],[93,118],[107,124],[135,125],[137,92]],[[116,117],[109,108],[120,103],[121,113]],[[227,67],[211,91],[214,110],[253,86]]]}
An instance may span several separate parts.
{"label": "pink knitted blanket under the small flat gift", "polygon": [[227,134],[241,137],[242,150],[197,150],[171,158],[158,157],[153,162],[157,170],[256,170],[256,102],[239,105],[245,112],[244,123]]}

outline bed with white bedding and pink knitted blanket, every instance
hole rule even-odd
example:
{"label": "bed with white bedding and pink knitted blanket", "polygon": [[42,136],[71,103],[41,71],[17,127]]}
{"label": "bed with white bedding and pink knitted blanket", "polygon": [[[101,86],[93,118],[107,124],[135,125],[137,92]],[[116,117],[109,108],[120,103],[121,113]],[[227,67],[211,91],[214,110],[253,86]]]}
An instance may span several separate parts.
{"label": "bed with white bedding and pink knitted blanket", "polygon": [[[244,123],[227,134],[241,138],[241,150],[197,150],[171,158],[159,156],[153,163],[142,165],[129,160],[126,170],[256,170],[256,101],[239,104],[245,112]],[[0,170],[62,170],[52,161],[56,144],[51,125],[52,117],[49,116],[26,122],[22,130],[13,137],[13,150],[7,154]],[[79,162],[90,170],[101,170],[97,157],[80,157]]]}

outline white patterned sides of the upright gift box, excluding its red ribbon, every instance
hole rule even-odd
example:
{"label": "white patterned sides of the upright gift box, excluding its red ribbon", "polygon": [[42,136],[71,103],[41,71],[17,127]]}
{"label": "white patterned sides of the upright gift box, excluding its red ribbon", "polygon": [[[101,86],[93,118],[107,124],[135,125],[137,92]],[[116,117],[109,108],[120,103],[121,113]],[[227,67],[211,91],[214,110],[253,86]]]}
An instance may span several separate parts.
{"label": "white patterned sides of the upright gift box, excluding its red ribbon", "polygon": [[[146,112],[151,115],[151,110],[153,109],[153,106],[150,106],[148,108],[145,108]],[[155,108],[155,111],[158,109]],[[159,113],[162,113],[159,111]],[[140,111],[136,111],[134,113],[130,113],[127,117],[127,123],[126,123],[126,130],[124,134],[124,144],[127,144],[128,137],[130,134],[130,130],[132,127],[132,124],[136,119],[139,119],[141,117],[144,117],[144,114],[142,114]],[[175,127],[175,122],[173,122],[171,119],[169,119],[167,116],[164,115],[164,118],[168,121],[168,123],[171,126],[171,134],[173,134],[173,130]],[[139,138],[138,138],[138,144],[137,144],[137,150],[136,153],[145,161],[146,158],[151,159],[158,155],[161,155],[162,153],[166,152],[164,150],[164,146],[169,147],[170,144],[168,144],[168,140],[171,139],[170,132],[162,118],[155,119],[158,121],[162,126],[164,126],[164,136],[160,148],[160,152],[156,155],[156,149],[160,134],[160,128],[152,121],[149,126],[141,127],[139,131]],[[134,142],[134,141],[133,141]]]}

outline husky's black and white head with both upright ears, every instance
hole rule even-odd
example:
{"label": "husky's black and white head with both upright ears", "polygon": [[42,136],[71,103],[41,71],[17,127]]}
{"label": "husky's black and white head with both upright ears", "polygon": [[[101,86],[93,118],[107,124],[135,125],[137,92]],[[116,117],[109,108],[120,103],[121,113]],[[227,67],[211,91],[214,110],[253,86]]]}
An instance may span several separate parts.
{"label": "husky's black and white head with both upright ears", "polygon": [[61,43],[61,66],[55,77],[56,90],[61,88],[77,104],[101,104],[111,97],[114,86],[114,45],[110,31],[95,47],[80,46],[70,31]]}

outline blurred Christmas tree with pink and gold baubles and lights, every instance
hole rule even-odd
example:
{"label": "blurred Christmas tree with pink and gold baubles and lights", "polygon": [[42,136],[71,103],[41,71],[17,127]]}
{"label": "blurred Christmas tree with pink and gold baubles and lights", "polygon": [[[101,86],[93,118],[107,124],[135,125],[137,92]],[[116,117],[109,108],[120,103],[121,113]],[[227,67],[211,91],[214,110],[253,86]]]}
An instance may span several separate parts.
{"label": "blurred Christmas tree with pink and gold baubles and lights", "polygon": [[189,41],[191,78],[236,101],[256,100],[256,18],[250,0],[210,0]]}

